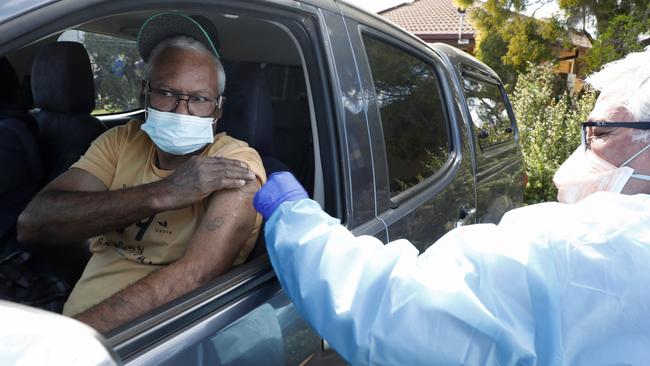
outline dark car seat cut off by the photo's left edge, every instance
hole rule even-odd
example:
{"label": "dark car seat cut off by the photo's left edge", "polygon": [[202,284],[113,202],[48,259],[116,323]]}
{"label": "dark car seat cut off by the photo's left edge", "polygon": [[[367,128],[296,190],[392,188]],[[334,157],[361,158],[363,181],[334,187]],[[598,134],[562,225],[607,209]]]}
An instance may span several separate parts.
{"label": "dark car seat cut off by the photo's left edge", "polygon": [[51,256],[16,238],[18,215],[41,189],[44,172],[38,125],[6,57],[0,58],[0,85],[0,299],[60,312],[71,284],[43,265]]}

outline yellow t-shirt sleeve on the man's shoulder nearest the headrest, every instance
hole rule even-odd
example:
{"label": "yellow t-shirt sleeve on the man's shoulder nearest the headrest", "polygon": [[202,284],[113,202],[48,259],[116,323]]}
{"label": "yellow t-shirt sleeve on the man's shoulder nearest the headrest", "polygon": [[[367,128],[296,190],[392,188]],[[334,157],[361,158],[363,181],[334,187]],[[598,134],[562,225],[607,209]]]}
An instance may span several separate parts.
{"label": "yellow t-shirt sleeve on the man's shoulder nearest the headrest", "polygon": [[115,177],[115,169],[124,142],[126,128],[115,127],[104,132],[71,168],[78,168],[99,178],[107,187]]}

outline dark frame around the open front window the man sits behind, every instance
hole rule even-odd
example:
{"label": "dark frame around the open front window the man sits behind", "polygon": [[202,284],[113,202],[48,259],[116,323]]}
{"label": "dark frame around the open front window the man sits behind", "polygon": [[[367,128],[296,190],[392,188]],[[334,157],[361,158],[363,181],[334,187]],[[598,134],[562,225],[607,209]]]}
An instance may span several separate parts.
{"label": "dark frame around the open front window the man sits behind", "polygon": [[[193,8],[198,9],[200,4],[200,1],[193,1],[188,4],[183,4],[180,8],[183,8],[183,10]],[[45,34],[45,36],[49,37],[56,34],[58,38],[58,35],[64,30],[77,28],[79,24],[91,22],[100,17],[111,17],[118,14],[139,11],[151,11],[153,8],[164,9],[169,6],[169,3],[164,1],[151,2],[147,4],[133,4],[133,2],[130,1],[114,1],[110,4],[99,4],[93,9],[84,9],[76,8],[71,5],[71,3],[54,3],[44,7],[43,9],[39,9],[38,14],[27,14],[25,19],[42,19],[40,17],[42,17],[44,12],[46,12],[50,7],[56,8],[57,12],[61,12],[62,9],[64,9],[63,12],[66,14],[65,17],[56,19],[55,22],[47,24],[35,22],[34,24],[38,24],[39,26],[31,26],[30,29],[38,31],[27,32],[17,36],[15,39],[12,39],[10,42],[7,42],[2,46],[4,49],[9,49],[9,53],[11,53],[20,48],[16,45],[29,45],[31,42],[37,40],[39,34]],[[245,14],[260,20],[274,21],[282,24],[285,24],[286,22],[285,25],[287,28],[291,30],[291,34],[298,40],[296,47],[299,47],[302,50],[301,52],[304,53],[303,67],[305,69],[305,82],[308,83],[309,107],[312,115],[312,121],[310,123],[312,124],[312,129],[314,126],[317,127],[314,133],[320,141],[319,151],[317,153],[322,161],[321,169],[323,170],[322,176],[325,190],[324,208],[331,215],[342,218],[344,197],[342,195],[340,183],[340,166],[336,163],[339,161],[339,152],[337,149],[338,144],[336,143],[337,140],[335,138],[335,136],[338,136],[338,131],[336,130],[336,123],[334,123],[335,108],[330,94],[331,75],[329,75],[327,65],[323,65],[322,62],[325,59],[325,63],[328,63],[329,59],[327,59],[326,56],[323,56],[326,54],[326,51],[323,50],[325,46],[322,42],[322,35],[319,33],[321,30],[319,27],[322,25],[320,24],[321,21],[318,19],[317,12],[306,10],[305,7],[275,3],[265,3],[262,5],[233,5],[225,2],[223,4],[213,4],[210,5],[210,7],[215,13],[230,13],[231,9],[235,9],[232,13]],[[314,9],[318,8],[314,7]],[[314,23],[309,25],[309,27],[311,27],[309,30],[305,29],[308,27],[306,25],[308,21],[301,19],[301,16],[304,16],[305,14],[306,16],[313,18],[313,21],[309,20],[311,23]],[[56,38],[53,41],[56,41]],[[309,51],[305,51],[306,49],[309,49]],[[148,312],[142,317],[138,317],[133,321],[116,328],[107,333],[105,337],[111,347],[118,351],[122,359],[124,357],[131,357],[132,355],[138,354],[147,349],[147,347],[151,346],[152,342],[159,342],[173,334],[184,331],[183,328],[189,323],[180,323],[182,325],[178,325],[178,322],[180,322],[179,319],[181,319],[179,317],[182,316],[182,313],[191,312],[192,309],[195,309],[196,306],[200,306],[203,302],[210,303],[217,299],[223,299],[223,304],[228,304],[228,301],[233,300],[237,298],[237,296],[248,291],[245,287],[246,283],[251,283],[251,286],[254,286],[252,283],[255,281],[262,281],[265,283],[270,281],[269,283],[272,285],[278,284],[267,255],[263,255],[259,259],[255,259],[240,267],[231,269],[224,276],[221,276],[205,286],[197,288],[176,300],[172,300],[169,303]],[[218,304],[214,304],[213,307],[218,307]],[[172,318],[172,316],[175,317]],[[176,322],[176,324],[174,324],[174,322]],[[166,327],[165,330],[160,328],[161,331],[150,333],[150,335],[153,334],[153,341],[151,339],[144,340],[142,337],[139,337],[139,339],[134,338],[137,334],[147,330],[156,331],[153,327],[163,326]],[[127,345],[127,342],[135,343]],[[122,350],[119,350],[120,347],[122,347]]]}

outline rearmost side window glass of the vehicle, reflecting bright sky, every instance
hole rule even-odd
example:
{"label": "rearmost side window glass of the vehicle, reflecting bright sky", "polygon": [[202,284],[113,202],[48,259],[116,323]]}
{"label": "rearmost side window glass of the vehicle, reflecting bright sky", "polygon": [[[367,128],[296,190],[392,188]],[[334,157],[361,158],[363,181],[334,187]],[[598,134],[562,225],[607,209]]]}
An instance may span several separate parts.
{"label": "rearmost side window glass of the vehicle, reflecting bright sky", "polygon": [[512,140],[512,122],[506,103],[496,84],[471,78],[463,79],[467,106],[483,147]]}

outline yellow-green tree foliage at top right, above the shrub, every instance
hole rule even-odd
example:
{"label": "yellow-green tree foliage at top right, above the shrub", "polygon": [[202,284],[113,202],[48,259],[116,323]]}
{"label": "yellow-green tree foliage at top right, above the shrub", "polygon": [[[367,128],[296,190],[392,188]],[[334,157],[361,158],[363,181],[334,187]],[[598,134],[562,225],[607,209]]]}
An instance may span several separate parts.
{"label": "yellow-green tree foliage at top right, above the shrub", "polygon": [[598,36],[587,56],[587,72],[641,50],[639,36],[650,28],[650,0],[559,0],[562,20],[520,15],[546,0],[455,1],[461,7],[473,7],[470,21],[477,30],[476,56],[510,86],[528,62],[552,60],[556,57],[553,46],[562,41],[570,47],[566,30],[571,27],[585,30],[590,20],[595,24]]}

